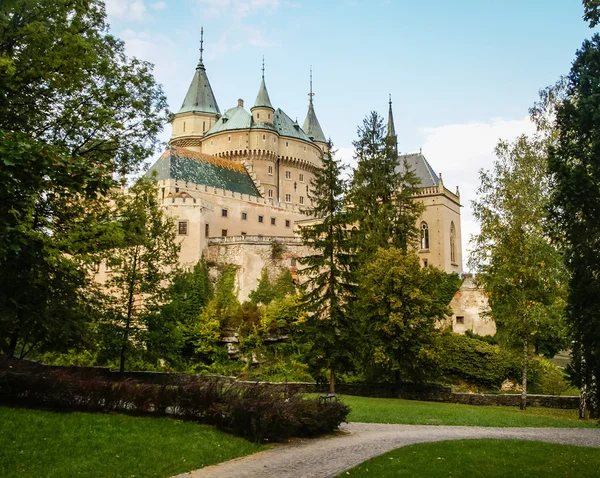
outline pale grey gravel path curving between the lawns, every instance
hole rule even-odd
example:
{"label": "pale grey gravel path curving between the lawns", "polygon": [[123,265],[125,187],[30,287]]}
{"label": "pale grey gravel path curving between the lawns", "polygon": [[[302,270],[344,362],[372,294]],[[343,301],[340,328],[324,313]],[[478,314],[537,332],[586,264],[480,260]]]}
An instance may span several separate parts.
{"label": "pale grey gravel path curving between the lawns", "polygon": [[332,477],[369,458],[412,443],[466,438],[535,440],[600,447],[594,428],[488,428],[348,423],[342,433],[303,440],[237,458],[176,478]]}

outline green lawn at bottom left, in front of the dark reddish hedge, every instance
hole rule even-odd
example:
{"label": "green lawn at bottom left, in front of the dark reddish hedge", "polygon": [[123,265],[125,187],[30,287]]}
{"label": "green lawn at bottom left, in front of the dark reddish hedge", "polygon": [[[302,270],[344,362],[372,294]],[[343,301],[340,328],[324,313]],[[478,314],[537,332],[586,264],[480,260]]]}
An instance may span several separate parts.
{"label": "green lawn at bottom left, in front of the dark reddish hedge", "polygon": [[264,448],[170,418],[0,407],[2,477],[166,477]]}

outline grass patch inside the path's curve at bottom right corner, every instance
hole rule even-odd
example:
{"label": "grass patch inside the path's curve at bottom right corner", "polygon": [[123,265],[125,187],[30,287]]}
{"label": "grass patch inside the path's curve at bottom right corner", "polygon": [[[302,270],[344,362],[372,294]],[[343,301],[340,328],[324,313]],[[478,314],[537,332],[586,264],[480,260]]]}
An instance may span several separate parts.
{"label": "grass patch inside the path's curve at bottom right corner", "polygon": [[410,445],[340,477],[597,477],[600,449],[523,440],[457,440]]}

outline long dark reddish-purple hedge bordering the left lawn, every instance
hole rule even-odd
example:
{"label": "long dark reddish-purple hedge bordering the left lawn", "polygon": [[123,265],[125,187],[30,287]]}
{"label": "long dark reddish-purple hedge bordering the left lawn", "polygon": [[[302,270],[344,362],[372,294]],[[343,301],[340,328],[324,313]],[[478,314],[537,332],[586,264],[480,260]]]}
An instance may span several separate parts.
{"label": "long dark reddish-purple hedge bordering the left lawn", "polygon": [[[36,372],[37,371],[37,372]],[[0,403],[50,409],[116,411],[197,420],[253,441],[330,432],[346,420],[341,402],[319,403],[268,385],[201,382],[159,385],[111,381],[68,370],[0,371]]]}

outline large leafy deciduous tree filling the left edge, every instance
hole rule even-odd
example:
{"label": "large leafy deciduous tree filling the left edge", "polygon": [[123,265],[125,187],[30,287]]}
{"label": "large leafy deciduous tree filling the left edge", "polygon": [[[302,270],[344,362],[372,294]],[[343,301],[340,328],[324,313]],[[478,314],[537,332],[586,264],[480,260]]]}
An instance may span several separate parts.
{"label": "large leafy deciduous tree filling the left edge", "polygon": [[81,341],[86,256],[116,239],[105,194],[114,172],[124,177],[155,149],[167,113],[150,65],[128,59],[107,33],[102,2],[2,3],[3,351]]}

